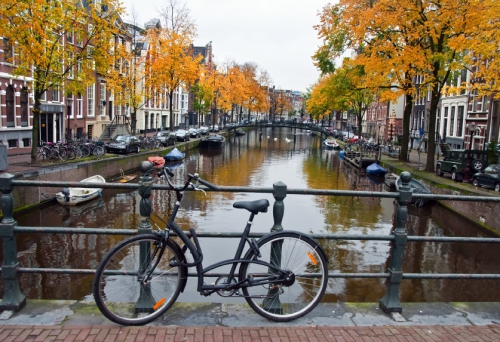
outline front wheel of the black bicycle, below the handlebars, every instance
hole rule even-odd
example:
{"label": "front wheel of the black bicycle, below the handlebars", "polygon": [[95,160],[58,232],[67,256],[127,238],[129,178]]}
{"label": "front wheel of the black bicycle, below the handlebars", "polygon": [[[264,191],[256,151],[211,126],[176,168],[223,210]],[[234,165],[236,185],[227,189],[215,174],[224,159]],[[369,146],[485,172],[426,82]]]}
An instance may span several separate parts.
{"label": "front wheel of the black bicycle, below the handlebars", "polygon": [[[155,268],[153,278],[143,284],[139,277],[156,261],[141,263],[140,249],[149,256],[161,238],[154,234],[130,237],[114,246],[97,267],[93,293],[97,307],[109,320],[122,325],[143,325],[163,315],[177,300],[182,279],[187,276],[185,268],[170,267],[171,260],[182,260],[177,248],[167,241],[165,252]],[[144,251],[146,252],[144,253]],[[148,258],[149,259],[149,258]],[[144,265],[142,269],[140,265]],[[142,308],[137,308],[142,294]]]}

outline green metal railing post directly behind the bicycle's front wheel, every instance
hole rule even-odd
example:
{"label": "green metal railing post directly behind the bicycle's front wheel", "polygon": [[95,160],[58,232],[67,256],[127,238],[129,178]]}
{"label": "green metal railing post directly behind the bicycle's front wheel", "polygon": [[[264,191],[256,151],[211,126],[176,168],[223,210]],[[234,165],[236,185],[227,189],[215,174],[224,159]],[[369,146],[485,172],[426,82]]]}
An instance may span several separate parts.
{"label": "green metal railing post directly behind the bicycle's front wheel", "polygon": [[[139,170],[142,172],[142,176],[139,179],[139,195],[141,195],[141,202],[139,205],[139,211],[141,214],[141,224],[137,230],[138,234],[150,234],[153,229],[150,222],[151,215],[151,190],[153,185],[153,177],[149,175],[149,172],[153,168],[153,164],[148,161],[143,161],[139,166]],[[141,265],[149,265],[151,257],[151,244],[149,242],[141,242],[139,247],[139,260]],[[139,272],[143,272],[144,269],[140,268]],[[151,285],[145,284],[141,287],[141,292],[137,303],[135,305],[135,312],[153,312],[153,307],[151,300],[152,297]]]}

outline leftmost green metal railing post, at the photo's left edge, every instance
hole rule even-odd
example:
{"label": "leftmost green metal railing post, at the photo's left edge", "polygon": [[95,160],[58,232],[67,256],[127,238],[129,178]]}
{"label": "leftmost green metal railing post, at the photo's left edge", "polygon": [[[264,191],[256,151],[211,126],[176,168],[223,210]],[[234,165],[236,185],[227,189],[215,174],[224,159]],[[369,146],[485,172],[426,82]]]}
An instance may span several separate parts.
{"label": "leftmost green metal railing post, at the photo's left edge", "polygon": [[3,244],[2,279],[4,283],[4,295],[0,302],[0,311],[19,311],[26,305],[26,296],[19,288],[19,277],[17,269],[16,233],[14,227],[14,197],[12,196],[12,180],[14,175],[4,173],[0,175],[0,191],[2,192],[1,208],[3,219],[0,223],[0,237]]}

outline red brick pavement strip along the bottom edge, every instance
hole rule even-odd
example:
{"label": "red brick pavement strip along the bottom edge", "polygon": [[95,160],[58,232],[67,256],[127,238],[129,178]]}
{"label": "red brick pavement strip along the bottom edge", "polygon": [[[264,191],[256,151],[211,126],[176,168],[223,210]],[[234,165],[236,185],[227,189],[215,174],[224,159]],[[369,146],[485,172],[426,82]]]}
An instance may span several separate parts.
{"label": "red brick pavement strip along the bottom edge", "polygon": [[0,341],[500,341],[500,325],[377,327],[116,327],[0,325]]}

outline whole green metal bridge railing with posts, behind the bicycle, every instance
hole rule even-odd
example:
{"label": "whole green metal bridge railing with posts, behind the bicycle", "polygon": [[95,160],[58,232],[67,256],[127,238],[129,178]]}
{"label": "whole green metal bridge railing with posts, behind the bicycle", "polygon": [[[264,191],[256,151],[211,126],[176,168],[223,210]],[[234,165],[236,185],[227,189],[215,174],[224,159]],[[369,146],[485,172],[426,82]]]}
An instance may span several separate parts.
{"label": "whole green metal bridge railing with posts, behind the bicycle", "polygon": [[[148,163],[148,162],[144,162]],[[144,167],[143,167],[144,165]],[[141,170],[146,165],[141,165]],[[282,230],[281,225],[287,195],[312,195],[312,196],[350,196],[350,197],[379,197],[394,198],[397,202],[395,215],[395,229],[390,235],[350,235],[350,234],[311,234],[315,239],[329,240],[378,240],[391,243],[390,262],[386,272],[383,273],[331,273],[329,278],[386,278],[386,293],[379,301],[379,306],[384,312],[402,312],[400,302],[400,285],[403,279],[498,279],[500,274],[436,274],[436,273],[403,273],[403,253],[408,242],[460,242],[460,243],[500,243],[500,238],[469,238],[469,237],[431,237],[431,236],[408,236],[405,231],[407,221],[407,206],[414,199],[421,200],[453,200],[472,202],[495,202],[500,203],[500,197],[487,196],[463,196],[463,195],[435,195],[435,194],[413,194],[410,189],[411,175],[409,172],[401,174],[402,186],[399,192],[371,192],[371,191],[345,191],[345,190],[314,190],[314,189],[288,189],[286,184],[277,182],[272,188],[265,187],[235,187],[219,186],[217,190],[205,189],[217,192],[247,192],[247,193],[272,193],[275,202],[273,204],[274,225],[271,231]],[[13,218],[14,198],[12,191],[17,186],[34,187],[86,187],[86,188],[111,188],[139,190],[141,195],[140,216],[141,224],[138,229],[105,229],[105,228],[63,228],[63,227],[21,227]],[[66,233],[66,234],[114,234],[134,235],[149,233],[152,231],[150,224],[151,200],[153,190],[170,190],[167,185],[153,184],[153,178],[143,173],[138,184],[123,183],[77,183],[77,182],[48,182],[16,180],[11,174],[0,175],[0,191],[2,192],[1,205],[3,219],[0,223],[0,237],[3,241],[3,264],[0,269],[4,282],[4,297],[0,302],[0,310],[18,311],[26,304],[26,297],[19,287],[20,273],[65,273],[65,274],[93,274],[93,269],[58,269],[58,268],[28,268],[22,267],[17,259],[17,233]],[[239,238],[241,233],[197,233],[198,237],[217,238]],[[261,237],[262,233],[252,233],[251,237]],[[332,270],[330,270],[332,271]],[[194,274],[189,274],[194,276]],[[220,276],[218,273],[210,276]]]}

